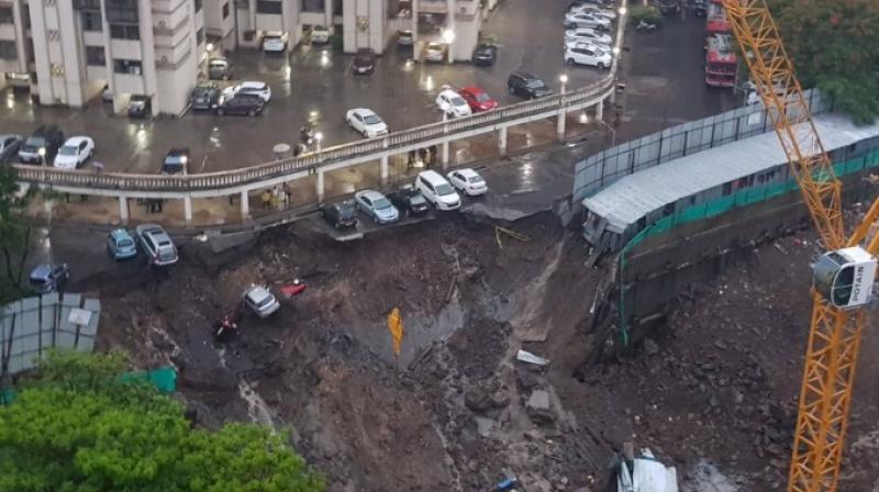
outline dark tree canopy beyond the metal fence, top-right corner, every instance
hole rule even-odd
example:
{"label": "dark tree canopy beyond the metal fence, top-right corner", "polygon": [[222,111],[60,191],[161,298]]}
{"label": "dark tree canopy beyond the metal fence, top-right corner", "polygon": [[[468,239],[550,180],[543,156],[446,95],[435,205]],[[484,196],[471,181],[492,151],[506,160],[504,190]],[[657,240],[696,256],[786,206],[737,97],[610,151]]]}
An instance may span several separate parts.
{"label": "dark tree canopy beyond the metal fence, top-right corner", "polygon": [[768,0],[797,77],[867,123],[879,115],[879,2]]}

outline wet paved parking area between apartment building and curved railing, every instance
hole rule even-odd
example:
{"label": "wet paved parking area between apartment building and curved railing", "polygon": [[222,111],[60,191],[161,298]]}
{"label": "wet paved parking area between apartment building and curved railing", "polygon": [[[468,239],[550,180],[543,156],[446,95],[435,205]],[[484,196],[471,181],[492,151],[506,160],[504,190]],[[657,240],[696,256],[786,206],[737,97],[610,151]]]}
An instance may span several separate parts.
{"label": "wet paved parking area between apartment building and curved railing", "polygon": [[[501,45],[492,67],[413,64],[408,62],[411,48],[391,45],[372,76],[355,77],[352,56],[333,53],[329,46],[303,45],[280,56],[240,49],[232,57],[236,76],[271,87],[272,99],[260,116],[220,118],[189,111],[179,119],[137,121],[110,114],[110,104],[100,99],[81,110],[68,110],[34,105],[26,96],[8,90],[0,94],[0,133],[26,135],[42,123],[56,123],[67,136],[92,136],[96,159],[112,171],[157,172],[167,150],[180,146],[192,153],[190,172],[251,166],[270,160],[275,144],[297,142],[299,128],[309,119],[318,119],[324,146],[360,139],[344,121],[352,108],[372,109],[391,131],[439,121],[434,100],[443,85],[476,85],[505,105],[521,101],[507,93],[508,75],[524,69],[558,90],[558,76],[567,69],[561,26],[567,4],[567,0],[552,0],[535,12],[528,0],[505,0],[482,27]],[[583,67],[567,71],[569,88],[607,74]]]}

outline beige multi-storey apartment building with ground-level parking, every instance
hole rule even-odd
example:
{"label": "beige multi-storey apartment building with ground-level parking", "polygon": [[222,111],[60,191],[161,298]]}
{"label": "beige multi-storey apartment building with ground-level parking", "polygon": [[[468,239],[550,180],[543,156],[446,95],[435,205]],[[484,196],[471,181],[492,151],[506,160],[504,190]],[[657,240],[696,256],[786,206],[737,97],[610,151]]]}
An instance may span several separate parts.
{"label": "beige multi-storey apartment building with ground-level parking", "polygon": [[[493,2],[493,0],[489,0]],[[116,111],[146,96],[154,114],[185,110],[208,56],[258,47],[282,31],[290,46],[330,26],[344,52],[377,53],[412,31],[415,53],[448,44],[467,60],[487,8],[480,0],[0,0],[0,88],[29,87],[42,104],[78,108],[104,88]]]}

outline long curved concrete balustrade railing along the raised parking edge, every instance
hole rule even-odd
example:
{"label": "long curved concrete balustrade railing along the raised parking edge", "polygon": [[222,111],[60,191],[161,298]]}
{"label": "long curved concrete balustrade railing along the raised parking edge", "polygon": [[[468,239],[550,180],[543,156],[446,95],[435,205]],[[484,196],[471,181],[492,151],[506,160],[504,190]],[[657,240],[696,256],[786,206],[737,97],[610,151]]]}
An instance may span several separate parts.
{"label": "long curved concrete balustrade railing along the raised parking edge", "polygon": [[559,111],[563,108],[571,108],[588,102],[596,102],[594,99],[597,97],[603,98],[609,90],[613,90],[614,74],[615,63],[609,77],[565,94],[548,96],[458,120],[415,126],[413,128],[391,133],[381,138],[336,145],[326,147],[320,153],[311,153],[299,157],[274,160],[229,171],[167,176],[131,175],[122,172],[99,174],[82,170],[71,172],[55,168],[41,168],[24,165],[14,165],[14,168],[18,170],[19,179],[22,181],[75,188],[176,192],[235,188],[269,178],[291,175],[304,169],[318,169],[323,166],[344,161],[352,157],[361,157],[365,154],[387,153],[394,149],[404,152],[411,148],[413,144],[420,142],[430,142],[443,137],[454,138],[455,135],[465,135],[474,130],[499,127],[516,119]]}

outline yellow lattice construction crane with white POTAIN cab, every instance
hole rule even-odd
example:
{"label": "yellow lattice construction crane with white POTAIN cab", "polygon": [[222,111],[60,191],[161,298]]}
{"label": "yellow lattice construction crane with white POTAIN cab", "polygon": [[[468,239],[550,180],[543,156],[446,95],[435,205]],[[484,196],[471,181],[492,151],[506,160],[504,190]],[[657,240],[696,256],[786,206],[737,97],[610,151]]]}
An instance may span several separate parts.
{"label": "yellow lattice construction crane with white POTAIN cab", "polygon": [[879,199],[846,238],[842,183],[821,144],[793,66],[765,0],[722,0],[745,63],[775,126],[827,253],[813,270],[805,356],[789,492],[835,491],[848,424],[866,304],[879,254]]}

